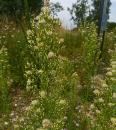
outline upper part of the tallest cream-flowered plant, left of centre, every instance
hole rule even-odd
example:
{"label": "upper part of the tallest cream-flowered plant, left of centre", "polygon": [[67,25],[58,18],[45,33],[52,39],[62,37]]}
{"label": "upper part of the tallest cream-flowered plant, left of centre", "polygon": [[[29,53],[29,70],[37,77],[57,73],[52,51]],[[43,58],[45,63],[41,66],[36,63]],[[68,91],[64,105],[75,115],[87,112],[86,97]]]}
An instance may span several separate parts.
{"label": "upper part of the tallest cream-flowered plant, left of centre", "polygon": [[28,90],[39,88],[42,84],[44,87],[44,82],[49,80],[48,73],[55,71],[59,64],[57,56],[63,40],[59,40],[55,27],[60,23],[53,20],[46,8],[35,18],[36,21],[32,21],[33,29],[27,30],[29,58],[25,65],[25,77]]}

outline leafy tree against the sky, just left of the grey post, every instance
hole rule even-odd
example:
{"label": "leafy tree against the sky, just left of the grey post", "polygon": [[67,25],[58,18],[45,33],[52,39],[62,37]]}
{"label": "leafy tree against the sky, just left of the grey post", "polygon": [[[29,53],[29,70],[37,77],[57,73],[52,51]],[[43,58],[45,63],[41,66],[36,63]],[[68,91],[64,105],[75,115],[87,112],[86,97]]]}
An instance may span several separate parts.
{"label": "leafy tree against the sky, just left of the grey post", "polygon": [[[91,0],[91,5],[89,7],[89,0],[77,0],[75,4],[73,4],[72,9],[68,8],[72,20],[74,23],[79,26],[84,25],[87,22],[94,22],[98,25],[98,21],[100,18],[100,2],[101,0]],[[110,13],[110,5],[111,2],[108,2],[107,14]]]}

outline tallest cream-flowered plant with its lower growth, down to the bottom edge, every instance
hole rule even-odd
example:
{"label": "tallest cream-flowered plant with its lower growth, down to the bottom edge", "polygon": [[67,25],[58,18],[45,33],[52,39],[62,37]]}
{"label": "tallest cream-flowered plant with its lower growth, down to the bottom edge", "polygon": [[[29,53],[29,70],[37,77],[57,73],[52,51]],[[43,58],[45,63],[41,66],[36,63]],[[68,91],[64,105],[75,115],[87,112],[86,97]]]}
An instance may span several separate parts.
{"label": "tallest cream-flowered plant with its lower growth, down to the bottom edge", "polygon": [[69,105],[77,103],[78,75],[69,60],[59,55],[63,39],[55,31],[57,26],[60,22],[44,7],[27,31],[26,89],[38,96],[14,124],[16,130],[65,129]]}

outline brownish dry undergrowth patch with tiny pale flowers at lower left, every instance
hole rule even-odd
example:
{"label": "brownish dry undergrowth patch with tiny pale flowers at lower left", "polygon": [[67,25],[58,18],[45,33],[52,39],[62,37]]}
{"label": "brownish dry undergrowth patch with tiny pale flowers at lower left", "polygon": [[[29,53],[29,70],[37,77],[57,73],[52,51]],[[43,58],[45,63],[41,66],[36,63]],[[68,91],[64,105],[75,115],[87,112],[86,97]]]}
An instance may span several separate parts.
{"label": "brownish dry undergrowth patch with tiny pale flowers at lower left", "polygon": [[7,130],[13,129],[13,124],[17,122],[17,119],[22,117],[26,107],[30,102],[36,98],[35,95],[30,95],[22,89],[10,90],[10,110],[0,116],[0,129]]}

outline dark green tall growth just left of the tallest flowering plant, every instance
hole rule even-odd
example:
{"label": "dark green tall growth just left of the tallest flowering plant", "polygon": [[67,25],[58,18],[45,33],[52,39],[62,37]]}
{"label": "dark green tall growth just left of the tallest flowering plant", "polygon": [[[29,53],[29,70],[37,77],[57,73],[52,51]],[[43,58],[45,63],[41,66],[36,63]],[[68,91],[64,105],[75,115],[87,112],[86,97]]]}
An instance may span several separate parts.
{"label": "dark green tall growth just left of the tallest flowering plant", "polygon": [[[14,32],[13,32],[14,33]],[[25,87],[24,64],[26,57],[26,40],[22,32],[16,32],[15,37],[7,36],[7,48],[10,64],[10,77],[13,86]],[[14,36],[15,34],[12,34]],[[11,44],[12,43],[12,44]]]}

